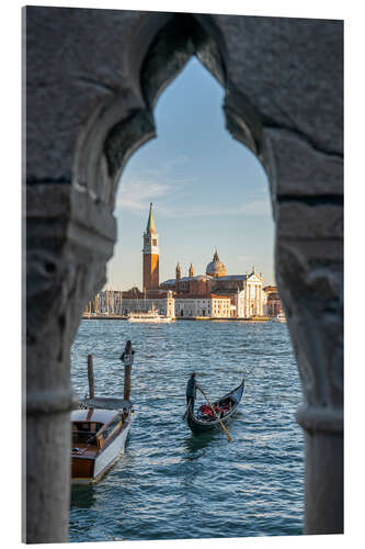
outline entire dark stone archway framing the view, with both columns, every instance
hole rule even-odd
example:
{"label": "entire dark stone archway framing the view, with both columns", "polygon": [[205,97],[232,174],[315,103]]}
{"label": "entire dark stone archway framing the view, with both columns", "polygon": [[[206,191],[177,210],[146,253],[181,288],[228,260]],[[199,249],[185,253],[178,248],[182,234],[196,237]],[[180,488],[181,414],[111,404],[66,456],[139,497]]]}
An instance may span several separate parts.
{"label": "entire dark stone archway framing the view, with both columns", "polygon": [[23,13],[24,538],[67,540],[70,346],[84,304],[105,282],[123,167],[155,137],[158,96],[192,55],[225,88],[227,128],[269,176],[276,278],[306,400],[297,414],[306,434],[305,533],[341,533],[342,22],[58,8]]}

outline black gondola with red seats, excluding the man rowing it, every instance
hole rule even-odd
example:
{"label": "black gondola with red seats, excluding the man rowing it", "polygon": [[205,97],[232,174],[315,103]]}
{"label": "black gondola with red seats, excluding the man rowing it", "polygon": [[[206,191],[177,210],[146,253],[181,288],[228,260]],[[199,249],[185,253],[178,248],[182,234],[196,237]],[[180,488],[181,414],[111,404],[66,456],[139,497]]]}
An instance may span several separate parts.
{"label": "black gondola with red seats, excluding the man rowing it", "polygon": [[243,389],[244,378],[240,385],[212,403],[220,421],[216,418],[207,404],[202,404],[196,413],[189,406],[186,421],[192,432],[197,434],[221,429],[221,423],[228,423],[237,412],[242,399]]}

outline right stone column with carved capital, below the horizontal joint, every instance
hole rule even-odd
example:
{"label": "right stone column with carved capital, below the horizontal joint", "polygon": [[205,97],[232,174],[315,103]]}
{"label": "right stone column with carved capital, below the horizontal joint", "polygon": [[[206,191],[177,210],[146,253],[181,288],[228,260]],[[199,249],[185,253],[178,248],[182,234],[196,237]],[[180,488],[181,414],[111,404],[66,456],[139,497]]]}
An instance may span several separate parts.
{"label": "right stone column with carved capital, below the horizontal joint", "polygon": [[305,534],[343,531],[343,249],[341,239],[276,240],[276,277],[305,405]]}

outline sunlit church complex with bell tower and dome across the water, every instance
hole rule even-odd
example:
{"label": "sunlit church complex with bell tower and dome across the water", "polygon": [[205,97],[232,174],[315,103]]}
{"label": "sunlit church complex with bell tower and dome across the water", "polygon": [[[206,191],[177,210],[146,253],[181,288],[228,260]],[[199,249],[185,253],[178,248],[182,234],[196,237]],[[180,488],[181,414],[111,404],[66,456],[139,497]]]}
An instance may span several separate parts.
{"label": "sunlit church complex with bell tower and dome across the water", "polygon": [[[142,235],[142,291],[133,288],[126,292],[105,290],[85,307],[85,313],[127,315],[157,307],[160,314],[176,317],[243,317],[267,315],[275,309],[271,289],[263,290],[263,279],[252,267],[251,273],[227,274],[216,249],[205,274],[194,276],[190,265],[189,277],[182,277],[178,261],[175,278],[159,283],[159,237],[156,231],[152,203]],[[275,310],[276,311],[276,310]],[[272,314],[274,316],[274,314]]]}

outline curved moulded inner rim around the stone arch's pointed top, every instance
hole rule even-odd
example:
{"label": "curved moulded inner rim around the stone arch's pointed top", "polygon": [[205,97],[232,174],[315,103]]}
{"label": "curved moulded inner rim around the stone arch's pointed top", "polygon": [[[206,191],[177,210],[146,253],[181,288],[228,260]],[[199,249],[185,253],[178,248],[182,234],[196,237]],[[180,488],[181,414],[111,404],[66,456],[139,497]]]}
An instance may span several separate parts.
{"label": "curved moulded inner rim around the stone arch's pointed top", "polygon": [[[159,96],[193,55],[225,89],[228,132],[252,150],[271,177],[274,170],[260,115],[250,100],[227,79],[225,42],[213,19],[171,14],[155,35],[151,15],[151,29],[146,22],[136,29],[135,40],[126,53],[135,63],[138,57],[135,48],[147,49],[140,59],[139,72],[133,74],[133,89],[122,89],[99,105],[81,132],[76,147],[73,184],[87,187],[96,201],[114,208],[117,184],[128,158],[156,137],[153,108]],[[146,43],[141,47],[147,37],[150,40],[148,47]]]}

